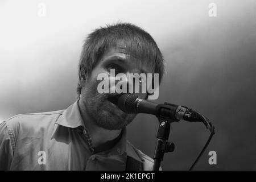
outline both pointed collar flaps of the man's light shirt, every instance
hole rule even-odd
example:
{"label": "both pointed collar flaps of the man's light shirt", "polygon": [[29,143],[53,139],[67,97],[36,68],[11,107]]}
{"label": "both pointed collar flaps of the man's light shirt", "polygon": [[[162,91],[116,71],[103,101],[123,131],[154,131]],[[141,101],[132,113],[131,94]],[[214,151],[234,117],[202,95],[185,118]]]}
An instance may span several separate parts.
{"label": "both pointed collar flaps of the man's light shirt", "polygon": [[[84,121],[82,120],[79,104],[77,100],[73,105],[69,106],[67,109],[65,109],[62,113],[62,118],[57,119],[55,122],[57,125],[70,127],[72,129],[75,129],[79,126],[82,126],[85,128]],[[139,162],[142,162],[143,159],[140,158],[138,152],[136,151],[135,147],[133,147],[130,142],[127,141],[127,131],[126,127],[122,131],[122,136],[115,144],[113,148],[111,148],[108,153],[111,155],[117,155],[115,154],[118,151],[119,154],[123,154],[123,152],[126,152],[128,156],[131,158],[134,158],[135,160],[138,160]],[[105,153],[105,152],[104,152]]]}

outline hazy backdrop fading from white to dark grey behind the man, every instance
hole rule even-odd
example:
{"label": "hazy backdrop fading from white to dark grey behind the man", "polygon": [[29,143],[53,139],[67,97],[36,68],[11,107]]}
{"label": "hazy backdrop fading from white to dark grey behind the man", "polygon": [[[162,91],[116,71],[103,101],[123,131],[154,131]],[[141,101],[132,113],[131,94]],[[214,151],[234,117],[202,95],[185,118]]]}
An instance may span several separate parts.
{"label": "hazy backdrop fading from white to dark grey behind the man", "polygon": [[[39,16],[39,3],[46,16]],[[217,17],[209,17],[209,3]],[[195,169],[256,170],[256,1],[0,0],[0,122],[21,113],[65,109],[76,100],[82,41],[94,28],[130,22],[148,31],[166,60],[156,102],[190,106],[210,118],[216,135]],[[158,121],[138,115],[129,139],[153,156]],[[173,153],[164,170],[187,170],[208,131],[171,125]],[[217,152],[217,165],[208,152]]]}

